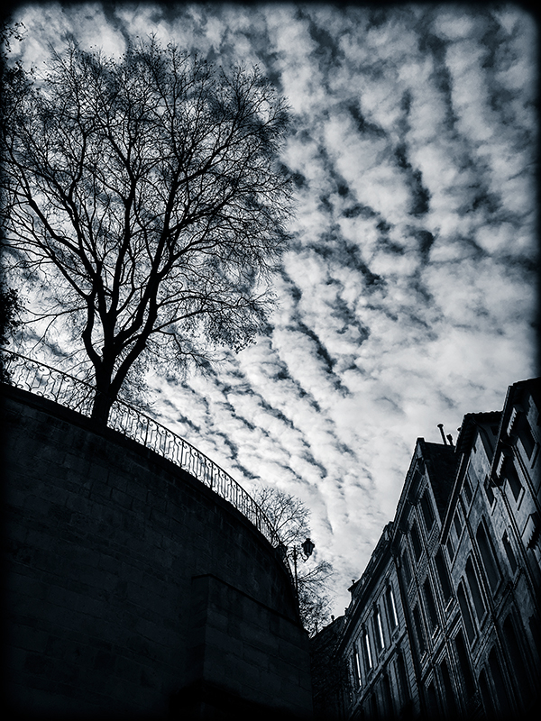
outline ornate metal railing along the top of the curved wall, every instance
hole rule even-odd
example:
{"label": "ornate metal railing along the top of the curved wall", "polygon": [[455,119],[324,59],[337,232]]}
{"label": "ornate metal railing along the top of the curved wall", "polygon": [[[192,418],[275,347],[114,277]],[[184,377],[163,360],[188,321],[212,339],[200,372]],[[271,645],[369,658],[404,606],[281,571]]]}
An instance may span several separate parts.
{"label": "ornate metal railing along the top of the curved wall", "polygon": [[[49,398],[87,417],[92,415],[96,388],[45,363],[5,349],[0,352],[9,385]],[[115,400],[111,406],[107,426],[188,471],[248,518],[274,547],[280,545],[271,521],[250,494],[184,438],[120,400]]]}

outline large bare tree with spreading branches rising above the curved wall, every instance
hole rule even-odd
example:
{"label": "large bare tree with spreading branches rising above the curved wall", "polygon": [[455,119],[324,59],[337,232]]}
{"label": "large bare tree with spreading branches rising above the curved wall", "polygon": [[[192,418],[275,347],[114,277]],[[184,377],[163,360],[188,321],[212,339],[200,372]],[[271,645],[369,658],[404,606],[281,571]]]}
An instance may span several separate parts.
{"label": "large bare tree with spreading branches rising above the curved wall", "polygon": [[288,238],[287,107],[257,68],[152,38],[121,59],[70,43],[41,75],[7,76],[8,272],[34,283],[42,341],[69,337],[105,424],[148,363],[205,365],[264,327]]}

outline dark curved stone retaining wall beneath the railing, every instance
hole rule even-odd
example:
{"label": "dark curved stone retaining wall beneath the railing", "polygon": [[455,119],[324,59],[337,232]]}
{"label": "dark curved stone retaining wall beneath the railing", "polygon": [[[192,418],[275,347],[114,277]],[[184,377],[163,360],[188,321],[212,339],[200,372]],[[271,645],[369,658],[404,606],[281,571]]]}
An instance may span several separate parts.
{"label": "dark curved stone retaining wall beneath the railing", "polygon": [[22,712],[311,711],[288,573],[234,507],[124,436],[4,399],[6,689]]}

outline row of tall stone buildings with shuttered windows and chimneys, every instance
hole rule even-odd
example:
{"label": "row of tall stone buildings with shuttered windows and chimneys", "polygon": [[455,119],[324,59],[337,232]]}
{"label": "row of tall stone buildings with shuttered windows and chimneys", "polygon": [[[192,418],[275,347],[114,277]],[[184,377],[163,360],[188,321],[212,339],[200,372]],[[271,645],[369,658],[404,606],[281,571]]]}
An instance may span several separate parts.
{"label": "row of tall stone buildings with shuttered windows and chimneys", "polygon": [[417,439],[397,512],[351,587],[344,719],[515,717],[539,699],[540,380]]}

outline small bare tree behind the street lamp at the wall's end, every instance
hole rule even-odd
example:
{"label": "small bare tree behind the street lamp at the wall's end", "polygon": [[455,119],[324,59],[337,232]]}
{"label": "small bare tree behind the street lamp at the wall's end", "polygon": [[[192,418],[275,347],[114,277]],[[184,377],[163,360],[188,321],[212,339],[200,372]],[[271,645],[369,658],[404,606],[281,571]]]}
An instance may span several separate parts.
{"label": "small bare tree behind the street lamp at the wall's end", "polygon": [[330,620],[327,583],[334,573],[329,561],[302,562],[301,544],[310,536],[310,511],[300,498],[280,488],[265,486],[252,490],[252,497],[276,528],[287,548],[289,561],[298,553],[298,607],[308,634],[314,635]]}

